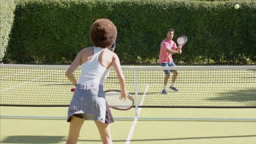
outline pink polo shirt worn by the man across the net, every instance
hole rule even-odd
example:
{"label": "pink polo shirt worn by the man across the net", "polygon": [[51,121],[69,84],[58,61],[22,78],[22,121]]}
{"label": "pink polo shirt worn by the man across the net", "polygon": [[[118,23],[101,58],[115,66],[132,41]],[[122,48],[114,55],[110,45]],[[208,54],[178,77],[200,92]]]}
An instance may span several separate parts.
{"label": "pink polo shirt worn by the man across the net", "polygon": [[172,54],[167,53],[167,49],[176,50],[177,46],[176,43],[171,40],[168,41],[168,39],[164,39],[161,43],[161,49],[160,49],[160,55],[159,55],[159,63],[163,62],[172,62]]}

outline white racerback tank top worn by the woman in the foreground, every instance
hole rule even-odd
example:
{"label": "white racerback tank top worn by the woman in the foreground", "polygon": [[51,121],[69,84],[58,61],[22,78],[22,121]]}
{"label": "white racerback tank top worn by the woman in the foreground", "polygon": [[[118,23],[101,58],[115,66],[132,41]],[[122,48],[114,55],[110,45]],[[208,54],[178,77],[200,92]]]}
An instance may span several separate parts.
{"label": "white racerback tank top worn by the woman in the foreground", "polygon": [[94,56],[90,61],[82,64],[82,71],[78,83],[80,84],[100,84],[103,85],[104,80],[108,76],[109,70],[98,62],[98,55],[104,50],[101,47],[93,47]]}

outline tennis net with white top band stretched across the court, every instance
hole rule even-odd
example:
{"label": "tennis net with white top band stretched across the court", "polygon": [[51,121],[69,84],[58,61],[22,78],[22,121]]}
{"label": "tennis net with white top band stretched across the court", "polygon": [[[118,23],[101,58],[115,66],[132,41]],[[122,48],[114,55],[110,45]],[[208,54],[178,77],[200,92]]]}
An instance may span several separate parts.
{"label": "tennis net with white top band stretched across the court", "polygon": [[[68,106],[72,83],[68,65],[0,65],[1,106]],[[255,108],[256,66],[122,66],[136,107]],[[178,70],[174,92],[164,87],[164,69]],[[80,67],[74,72],[77,79]],[[167,88],[171,85],[172,73]],[[120,89],[111,69],[104,89]]]}

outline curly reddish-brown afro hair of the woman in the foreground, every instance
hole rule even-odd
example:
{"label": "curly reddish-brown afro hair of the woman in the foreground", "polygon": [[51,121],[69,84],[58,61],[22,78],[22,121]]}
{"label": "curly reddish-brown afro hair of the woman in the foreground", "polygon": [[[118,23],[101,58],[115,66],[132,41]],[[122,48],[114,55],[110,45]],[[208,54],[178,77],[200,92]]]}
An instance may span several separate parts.
{"label": "curly reddish-brown afro hair of the woman in the foreground", "polygon": [[98,19],[90,28],[90,40],[94,46],[109,47],[117,39],[117,27],[109,19]]}

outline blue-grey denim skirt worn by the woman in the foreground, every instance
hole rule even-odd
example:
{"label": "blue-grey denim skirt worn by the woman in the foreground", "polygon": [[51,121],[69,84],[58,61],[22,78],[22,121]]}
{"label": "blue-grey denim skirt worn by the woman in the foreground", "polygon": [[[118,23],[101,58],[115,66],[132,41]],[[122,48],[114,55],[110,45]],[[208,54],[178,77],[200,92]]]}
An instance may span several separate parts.
{"label": "blue-grey denim skirt worn by the woman in the foreground", "polygon": [[105,99],[103,85],[78,83],[68,107],[67,122],[70,122],[71,116],[113,123],[114,119]]}

